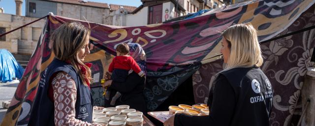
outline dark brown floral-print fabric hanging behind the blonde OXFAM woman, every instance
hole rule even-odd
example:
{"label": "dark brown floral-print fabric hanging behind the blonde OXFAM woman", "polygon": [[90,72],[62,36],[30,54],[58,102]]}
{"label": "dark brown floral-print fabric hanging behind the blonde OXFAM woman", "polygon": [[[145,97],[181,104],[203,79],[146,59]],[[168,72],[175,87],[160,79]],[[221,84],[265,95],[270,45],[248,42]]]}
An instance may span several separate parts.
{"label": "dark brown floral-print fabric hanging behind the blonde OXFAM woman", "polygon": [[[304,12],[279,35],[315,25],[315,6]],[[296,126],[302,113],[301,89],[315,47],[315,29],[280,38],[261,45],[264,64],[261,69],[269,78],[274,99],[271,126]],[[203,64],[193,74],[196,103],[207,103],[214,75],[222,70],[222,61]]]}

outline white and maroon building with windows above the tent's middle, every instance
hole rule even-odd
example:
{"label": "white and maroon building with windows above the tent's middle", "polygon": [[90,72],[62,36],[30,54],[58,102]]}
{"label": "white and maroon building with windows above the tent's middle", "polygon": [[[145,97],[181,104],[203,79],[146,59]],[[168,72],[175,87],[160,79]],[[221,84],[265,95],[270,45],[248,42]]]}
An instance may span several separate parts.
{"label": "white and maroon building with windows above the tent's middle", "polygon": [[[126,15],[126,25],[144,26],[182,20],[189,13],[222,7],[223,0],[141,0],[142,5]],[[178,19],[179,18],[179,19]],[[133,20],[132,20],[133,19]],[[136,20],[134,20],[136,19]],[[124,18],[123,18],[124,22]],[[113,21],[113,25],[115,25]]]}

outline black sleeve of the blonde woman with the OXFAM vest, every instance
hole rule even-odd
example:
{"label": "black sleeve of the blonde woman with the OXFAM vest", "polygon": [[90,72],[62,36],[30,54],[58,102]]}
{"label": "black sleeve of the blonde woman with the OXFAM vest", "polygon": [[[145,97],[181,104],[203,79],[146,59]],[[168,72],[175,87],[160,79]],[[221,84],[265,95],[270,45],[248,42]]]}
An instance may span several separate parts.
{"label": "black sleeve of the blonde woman with the OXFAM vest", "polygon": [[189,116],[176,114],[174,126],[228,126],[235,107],[235,95],[226,77],[220,75],[216,80],[209,116]]}

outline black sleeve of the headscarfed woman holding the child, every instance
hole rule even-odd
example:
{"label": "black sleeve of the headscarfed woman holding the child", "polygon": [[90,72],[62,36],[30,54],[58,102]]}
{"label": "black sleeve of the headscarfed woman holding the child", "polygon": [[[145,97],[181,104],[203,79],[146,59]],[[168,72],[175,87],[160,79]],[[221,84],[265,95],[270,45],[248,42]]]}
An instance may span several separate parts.
{"label": "black sleeve of the headscarfed woman holding the child", "polygon": [[140,77],[137,73],[130,73],[126,82],[112,82],[110,88],[120,92],[120,93],[128,93],[131,92],[141,81],[143,81],[144,77]]}

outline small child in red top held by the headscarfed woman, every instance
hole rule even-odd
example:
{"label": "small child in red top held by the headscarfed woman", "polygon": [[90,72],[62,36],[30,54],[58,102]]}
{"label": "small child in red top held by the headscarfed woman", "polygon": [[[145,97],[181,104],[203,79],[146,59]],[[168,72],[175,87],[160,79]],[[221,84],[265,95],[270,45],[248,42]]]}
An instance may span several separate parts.
{"label": "small child in red top held by the headscarfed woman", "polygon": [[[129,56],[129,46],[126,43],[119,44],[116,48],[117,56],[113,59],[112,63],[110,63],[108,72],[110,72],[111,79],[113,82],[125,82],[126,78],[129,74],[129,70],[133,70],[139,76],[144,76],[144,72],[140,69],[139,65],[134,61],[134,59]],[[115,84],[115,83],[113,83]],[[120,92],[117,92],[110,104],[115,105],[116,100],[121,96]],[[109,100],[110,92],[107,91],[105,98]]]}

